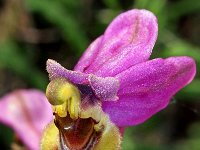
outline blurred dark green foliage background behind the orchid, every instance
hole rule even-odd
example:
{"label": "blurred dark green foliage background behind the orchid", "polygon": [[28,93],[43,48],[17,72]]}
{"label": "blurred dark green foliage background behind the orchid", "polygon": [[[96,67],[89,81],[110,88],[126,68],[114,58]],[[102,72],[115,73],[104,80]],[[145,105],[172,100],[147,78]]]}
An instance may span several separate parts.
{"label": "blurred dark green foliage background behind the orchid", "polygon": [[[45,90],[48,58],[72,69],[108,23],[133,8],[158,17],[152,58],[191,56],[197,75],[167,109],[127,128],[123,150],[199,150],[200,0],[1,0],[0,96],[19,88]],[[0,125],[0,149],[9,149],[13,137],[11,129]]]}

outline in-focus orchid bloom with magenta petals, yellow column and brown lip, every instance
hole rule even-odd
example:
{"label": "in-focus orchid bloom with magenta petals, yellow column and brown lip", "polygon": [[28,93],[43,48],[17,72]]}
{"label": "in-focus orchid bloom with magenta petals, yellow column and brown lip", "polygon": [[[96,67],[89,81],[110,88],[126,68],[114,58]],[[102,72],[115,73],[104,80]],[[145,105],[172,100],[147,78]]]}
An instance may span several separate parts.
{"label": "in-focus orchid bloom with magenta petals, yellow column and brown lip", "polygon": [[193,80],[196,66],[187,56],[149,60],[157,33],[151,12],[130,10],[110,23],[73,71],[49,59],[46,96],[54,119],[40,148],[120,149],[124,128],[164,109]]}

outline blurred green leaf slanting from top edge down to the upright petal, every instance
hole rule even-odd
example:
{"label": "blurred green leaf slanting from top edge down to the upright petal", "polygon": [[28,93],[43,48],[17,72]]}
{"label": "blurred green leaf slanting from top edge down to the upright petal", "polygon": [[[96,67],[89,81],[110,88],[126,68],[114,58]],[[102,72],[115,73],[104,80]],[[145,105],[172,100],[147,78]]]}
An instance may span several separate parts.
{"label": "blurred green leaf slanting from top edge down to the upright petal", "polygon": [[80,23],[72,16],[59,1],[27,0],[29,9],[43,15],[48,21],[63,31],[63,37],[70,42],[80,55],[86,48],[88,40]]}

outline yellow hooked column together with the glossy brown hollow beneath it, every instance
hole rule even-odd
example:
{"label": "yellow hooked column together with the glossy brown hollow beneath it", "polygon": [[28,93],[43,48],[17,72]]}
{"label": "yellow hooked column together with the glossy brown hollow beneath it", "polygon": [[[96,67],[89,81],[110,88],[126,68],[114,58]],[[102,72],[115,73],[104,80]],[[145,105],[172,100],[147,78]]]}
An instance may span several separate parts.
{"label": "yellow hooked column together with the glossy brown hollow beneath it", "polygon": [[79,89],[65,78],[55,78],[48,84],[46,95],[53,106],[61,149],[85,149],[94,146],[93,143],[97,142],[101,132],[96,133],[94,126],[98,122],[91,114],[83,118],[80,116],[84,109],[80,110]]}

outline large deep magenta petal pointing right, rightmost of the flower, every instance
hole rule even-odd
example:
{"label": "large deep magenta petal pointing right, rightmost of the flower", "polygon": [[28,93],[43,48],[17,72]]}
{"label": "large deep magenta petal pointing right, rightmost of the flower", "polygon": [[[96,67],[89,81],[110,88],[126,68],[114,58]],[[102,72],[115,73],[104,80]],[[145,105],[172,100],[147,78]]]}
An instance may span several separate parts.
{"label": "large deep magenta petal pointing right, rightmost of the flower", "polygon": [[103,110],[118,126],[144,122],[165,108],[172,96],[194,78],[196,66],[189,57],[155,59],[118,74],[119,100],[103,102]]}

